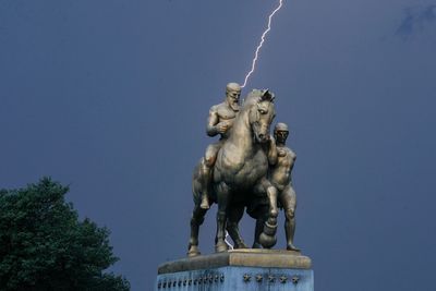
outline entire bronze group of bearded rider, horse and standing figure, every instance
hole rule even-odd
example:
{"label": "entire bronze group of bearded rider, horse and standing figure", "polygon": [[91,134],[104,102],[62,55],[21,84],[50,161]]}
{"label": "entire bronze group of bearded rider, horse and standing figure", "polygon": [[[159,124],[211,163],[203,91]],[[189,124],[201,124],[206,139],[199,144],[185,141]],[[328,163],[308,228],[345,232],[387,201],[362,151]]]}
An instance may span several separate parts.
{"label": "entire bronze group of bearded rider, horse and standing figure", "polygon": [[268,89],[253,89],[242,105],[240,95],[241,86],[229,83],[225,101],[209,110],[206,133],[220,138],[207,147],[193,173],[191,257],[199,255],[199,226],[213,203],[218,204],[217,253],[228,251],[226,230],[234,248],[247,248],[238,228],[245,208],[257,220],[253,247],[272,247],[278,206],[286,214],[287,250],[299,251],[293,245],[296,199],[291,181],[295,154],[286,146],[288,125],[278,123],[270,135],[276,113]]}

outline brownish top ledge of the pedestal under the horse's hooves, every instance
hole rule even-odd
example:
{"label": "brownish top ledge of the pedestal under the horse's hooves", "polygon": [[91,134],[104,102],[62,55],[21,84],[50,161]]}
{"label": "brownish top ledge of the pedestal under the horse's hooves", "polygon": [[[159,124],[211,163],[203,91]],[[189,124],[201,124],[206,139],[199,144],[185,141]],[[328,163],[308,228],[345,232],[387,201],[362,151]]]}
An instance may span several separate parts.
{"label": "brownish top ledge of the pedestal under the horse's hooves", "polygon": [[186,257],[159,266],[158,274],[211,269],[228,266],[310,269],[311,258],[284,250],[241,248],[223,253]]}

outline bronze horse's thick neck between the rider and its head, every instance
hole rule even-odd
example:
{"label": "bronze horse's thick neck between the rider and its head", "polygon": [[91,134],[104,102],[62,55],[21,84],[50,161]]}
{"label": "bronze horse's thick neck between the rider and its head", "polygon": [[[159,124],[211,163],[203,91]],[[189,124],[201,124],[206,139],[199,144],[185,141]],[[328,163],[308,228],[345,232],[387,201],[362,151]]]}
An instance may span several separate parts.
{"label": "bronze horse's thick neck between the rider and its head", "polygon": [[241,111],[238,120],[233,123],[229,142],[242,151],[250,155],[253,150],[253,133],[249,123],[249,111]]}

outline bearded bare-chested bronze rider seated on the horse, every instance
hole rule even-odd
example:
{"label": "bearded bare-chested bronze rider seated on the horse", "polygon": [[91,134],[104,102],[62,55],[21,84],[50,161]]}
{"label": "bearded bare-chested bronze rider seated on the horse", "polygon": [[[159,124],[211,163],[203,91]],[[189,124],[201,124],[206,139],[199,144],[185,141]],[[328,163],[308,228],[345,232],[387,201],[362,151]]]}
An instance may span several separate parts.
{"label": "bearded bare-chested bronze rider seated on the horse", "polygon": [[229,83],[226,86],[226,100],[222,104],[215,105],[209,110],[207,119],[206,132],[209,136],[220,135],[218,142],[210,144],[204,158],[202,159],[201,180],[202,180],[202,203],[201,208],[208,209],[209,187],[211,181],[211,169],[217,159],[218,150],[221,148],[223,141],[229,137],[229,130],[233,125],[234,118],[239,113],[239,98],[241,96],[241,86],[237,83]]}

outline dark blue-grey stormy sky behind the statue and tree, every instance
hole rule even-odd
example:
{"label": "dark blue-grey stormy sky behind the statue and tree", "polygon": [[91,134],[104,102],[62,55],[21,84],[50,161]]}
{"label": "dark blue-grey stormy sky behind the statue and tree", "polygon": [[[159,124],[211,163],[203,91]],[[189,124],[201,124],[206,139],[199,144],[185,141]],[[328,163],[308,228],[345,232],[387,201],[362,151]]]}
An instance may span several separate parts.
{"label": "dark blue-grey stormy sky behind the statue and tree", "polygon": [[[243,81],[276,5],[0,0],[0,187],[70,184],[81,216],[112,231],[113,270],[152,290],[186,252],[208,109]],[[315,286],[434,290],[436,1],[286,0],[272,26],[247,88],[275,92],[291,128],[295,244]]]}

